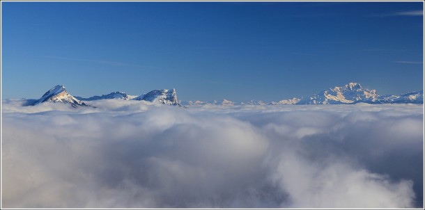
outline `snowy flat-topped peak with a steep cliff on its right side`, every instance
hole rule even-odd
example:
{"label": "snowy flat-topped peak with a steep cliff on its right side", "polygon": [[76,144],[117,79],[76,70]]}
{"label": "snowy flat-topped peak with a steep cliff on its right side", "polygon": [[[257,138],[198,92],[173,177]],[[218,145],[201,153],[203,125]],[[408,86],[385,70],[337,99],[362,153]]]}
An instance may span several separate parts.
{"label": "snowy flat-topped peak with a steep cliff on its right side", "polygon": [[159,104],[180,105],[177,101],[176,89],[152,90],[145,95],[135,97],[134,100],[144,100]]}

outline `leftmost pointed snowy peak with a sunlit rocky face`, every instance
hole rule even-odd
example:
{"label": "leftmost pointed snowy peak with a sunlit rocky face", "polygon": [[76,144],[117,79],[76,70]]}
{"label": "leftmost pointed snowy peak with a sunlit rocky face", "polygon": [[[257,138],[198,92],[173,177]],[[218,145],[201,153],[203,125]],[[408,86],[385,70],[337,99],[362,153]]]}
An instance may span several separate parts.
{"label": "leftmost pointed snowy peak with a sunlit rocky face", "polygon": [[43,102],[61,102],[63,104],[71,104],[73,107],[77,106],[88,106],[84,102],[79,101],[72,95],[70,95],[64,86],[57,85],[54,88],[47,91],[40,99],[36,101],[33,105],[37,105]]}

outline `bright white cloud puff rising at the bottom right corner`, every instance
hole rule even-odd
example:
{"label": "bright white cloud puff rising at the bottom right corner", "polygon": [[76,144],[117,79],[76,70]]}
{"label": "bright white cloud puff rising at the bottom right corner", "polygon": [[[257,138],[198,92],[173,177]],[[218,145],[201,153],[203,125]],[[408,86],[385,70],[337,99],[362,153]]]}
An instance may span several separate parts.
{"label": "bright white cloud puff rising at the bottom right corner", "polygon": [[302,156],[285,154],[275,173],[275,180],[291,198],[282,207],[408,208],[415,196],[412,181],[390,183],[388,177],[335,159],[316,165]]}

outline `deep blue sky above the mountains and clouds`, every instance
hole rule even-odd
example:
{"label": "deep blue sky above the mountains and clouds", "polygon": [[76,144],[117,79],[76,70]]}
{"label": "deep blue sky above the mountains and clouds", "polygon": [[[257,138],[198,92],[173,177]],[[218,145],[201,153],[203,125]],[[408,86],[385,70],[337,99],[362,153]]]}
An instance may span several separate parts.
{"label": "deep blue sky above the mountains and clouds", "polygon": [[422,90],[422,2],[1,2],[2,98],[278,101]]}

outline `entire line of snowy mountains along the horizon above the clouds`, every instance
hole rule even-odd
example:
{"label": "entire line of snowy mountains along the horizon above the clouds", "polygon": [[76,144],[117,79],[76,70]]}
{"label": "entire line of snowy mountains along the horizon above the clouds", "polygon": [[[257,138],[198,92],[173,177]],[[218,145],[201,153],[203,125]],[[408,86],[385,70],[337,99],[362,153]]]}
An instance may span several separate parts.
{"label": "entire line of snowy mountains along the horizon above the clouds", "polygon": [[90,106],[90,101],[100,99],[121,100],[144,100],[153,104],[168,104],[174,106],[197,106],[197,105],[304,105],[304,104],[423,104],[424,90],[408,92],[403,95],[379,95],[376,90],[363,88],[360,83],[348,83],[345,86],[337,86],[318,92],[310,97],[284,99],[279,102],[231,102],[226,99],[219,101],[178,101],[176,89],[152,90],[142,95],[127,95],[125,92],[111,92],[107,95],[95,95],[93,97],[77,97],[70,95],[64,86],[58,85],[47,91],[40,99],[34,100],[28,105],[37,105],[44,102],[61,102],[73,107]]}

